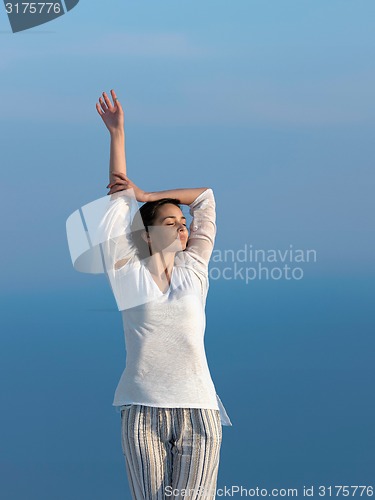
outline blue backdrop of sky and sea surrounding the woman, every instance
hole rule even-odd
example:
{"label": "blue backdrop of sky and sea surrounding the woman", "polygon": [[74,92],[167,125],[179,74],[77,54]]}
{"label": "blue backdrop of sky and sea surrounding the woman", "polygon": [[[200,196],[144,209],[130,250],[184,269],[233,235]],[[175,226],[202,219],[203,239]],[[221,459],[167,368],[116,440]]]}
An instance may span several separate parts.
{"label": "blue backdrop of sky and sea surrounding the woman", "polygon": [[[374,15],[370,0],[81,0],[13,34],[0,8],[8,479],[22,474],[39,492],[46,481],[51,498],[68,470],[64,500],[73,486],[80,500],[127,498],[111,408],[121,322],[104,277],[73,270],[65,234],[68,216],[107,192],[109,136],[95,103],[111,88],[125,110],[129,177],[153,191],[212,187],[216,249],[317,252],[300,281],[211,281],[207,353],[236,424],[224,430],[221,484],[370,477]],[[97,410],[89,429],[87,405]],[[250,479],[246,448],[233,445],[243,439],[258,453]],[[31,491],[15,484],[9,498]]]}

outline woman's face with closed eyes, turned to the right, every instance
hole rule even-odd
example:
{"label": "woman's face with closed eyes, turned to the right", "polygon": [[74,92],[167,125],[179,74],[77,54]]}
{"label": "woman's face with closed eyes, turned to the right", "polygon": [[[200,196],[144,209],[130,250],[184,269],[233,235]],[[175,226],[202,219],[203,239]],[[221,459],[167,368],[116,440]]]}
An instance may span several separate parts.
{"label": "woman's face with closed eyes, turned to the right", "polygon": [[154,224],[148,230],[152,253],[185,250],[189,237],[186,217],[173,203],[165,203],[159,207]]}

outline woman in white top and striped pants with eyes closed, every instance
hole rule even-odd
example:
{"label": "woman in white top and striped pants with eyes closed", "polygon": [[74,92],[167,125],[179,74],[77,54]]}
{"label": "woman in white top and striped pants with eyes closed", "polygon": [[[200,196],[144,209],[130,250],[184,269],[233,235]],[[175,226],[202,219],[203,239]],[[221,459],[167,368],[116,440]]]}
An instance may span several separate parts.
{"label": "woman in white top and striped pants with eyes closed", "polygon": [[[123,109],[111,94],[113,104],[105,92],[96,104],[111,137],[111,196],[104,207],[81,210],[86,233],[95,227],[89,249],[81,244],[84,251],[72,252],[78,233],[72,236],[71,228],[78,225],[67,229],[74,267],[98,272],[103,265],[122,312],[126,367],[113,405],[121,409],[132,497],[215,498],[221,425],[232,424],[204,350],[214,195],[210,188],[137,187],[126,171]],[[138,202],[144,203],[140,209]],[[180,204],[193,217],[190,236]]]}

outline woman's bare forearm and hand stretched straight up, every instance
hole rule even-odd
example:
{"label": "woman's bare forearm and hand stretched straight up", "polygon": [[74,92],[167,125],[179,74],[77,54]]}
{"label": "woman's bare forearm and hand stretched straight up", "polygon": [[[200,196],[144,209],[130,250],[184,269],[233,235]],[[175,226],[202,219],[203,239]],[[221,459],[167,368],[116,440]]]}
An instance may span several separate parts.
{"label": "woman's bare forearm and hand stretched straight up", "polygon": [[110,184],[116,180],[115,174],[126,175],[124,111],[114,90],[111,90],[111,95],[113,104],[106,92],[103,92],[103,97],[100,97],[99,103],[96,103],[96,109],[107,127],[111,138],[109,158]]}

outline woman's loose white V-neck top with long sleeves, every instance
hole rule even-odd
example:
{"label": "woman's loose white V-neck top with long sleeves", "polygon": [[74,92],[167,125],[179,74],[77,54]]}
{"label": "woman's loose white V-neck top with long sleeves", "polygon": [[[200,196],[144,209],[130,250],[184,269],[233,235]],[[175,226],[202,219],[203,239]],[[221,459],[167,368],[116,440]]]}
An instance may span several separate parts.
{"label": "woman's loose white V-neck top with long sleeves", "polygon": [[[113,406],[216,409],[222,425],[231,426],[204,347],[208,263],[216,235],[213,191],[206,189],[189,205],[188,245],[175,254],[166,292],[139,259],[131,238],[138,208],[134,191],[127,189],[85,205],[67,221],[74,268],[105,272],[122,314],[126,363]],[[141,218],[135,220],[142,229]],[[124,265],[115,267],[123,259]]]}

